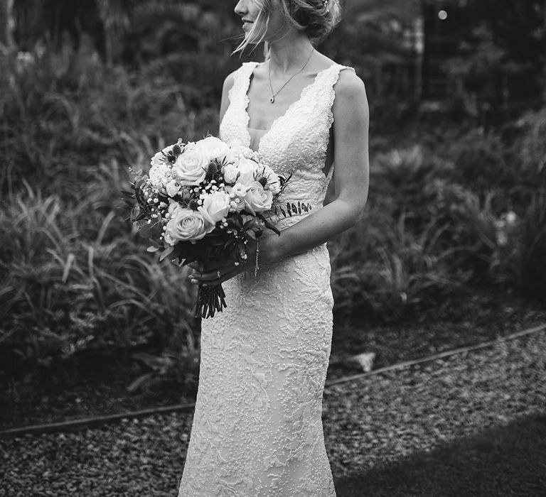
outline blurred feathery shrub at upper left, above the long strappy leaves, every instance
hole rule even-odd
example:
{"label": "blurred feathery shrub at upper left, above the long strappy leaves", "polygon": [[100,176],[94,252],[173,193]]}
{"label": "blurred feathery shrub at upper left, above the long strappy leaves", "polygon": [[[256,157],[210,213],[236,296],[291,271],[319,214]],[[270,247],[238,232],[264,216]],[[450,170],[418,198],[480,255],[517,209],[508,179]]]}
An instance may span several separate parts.
{"label": "blurred feathery shrub at upper left, above the long strappy leaves", "polygon": [[11,77],[0,94],[4,192],[25,178],[45,193],[70,196],[99,163],[142,167],[165,143],[218,127],[216,109],[188,107],[174,80],[107,67],[87,44],[60,53],[38,47],[26,62],[12,53],[8,63]]}

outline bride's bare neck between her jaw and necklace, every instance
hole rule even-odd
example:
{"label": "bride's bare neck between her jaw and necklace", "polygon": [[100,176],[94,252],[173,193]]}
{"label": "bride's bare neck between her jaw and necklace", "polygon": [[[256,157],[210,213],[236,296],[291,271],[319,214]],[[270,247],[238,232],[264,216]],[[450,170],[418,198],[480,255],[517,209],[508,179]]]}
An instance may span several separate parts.
{"label": "bride's bare neck between her jaw and necklace", "polygon": [[309,37],[301,31],[289,31],[269,42],[269,67],[272,75],[284,76],[301,68],[313,50]]}

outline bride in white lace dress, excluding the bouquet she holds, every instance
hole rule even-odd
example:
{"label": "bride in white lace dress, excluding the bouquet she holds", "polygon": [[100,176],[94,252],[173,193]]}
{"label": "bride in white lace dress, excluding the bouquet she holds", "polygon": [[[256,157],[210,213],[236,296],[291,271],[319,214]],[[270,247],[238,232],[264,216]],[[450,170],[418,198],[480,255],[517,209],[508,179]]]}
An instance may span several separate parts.
{"label": "bride in white lace dress, excluding the bouquet she holds", "polygon": [[[282,202],[312,210],[279,219],[281,235],[264,234],[246,264],[210,261],[191,275],[225,282],[228,309],[202,324],[178,495],[331,497],[321,420],[333,306],[326,241],[358,222],[368,196],[365,88],[314,49],[338,21],[338,0],[240,0],[235,12],[240,49],[263,40],[269,57],[226,78],[220,138],[291,174]],[[334,200],[323,207],[331,178]]]}

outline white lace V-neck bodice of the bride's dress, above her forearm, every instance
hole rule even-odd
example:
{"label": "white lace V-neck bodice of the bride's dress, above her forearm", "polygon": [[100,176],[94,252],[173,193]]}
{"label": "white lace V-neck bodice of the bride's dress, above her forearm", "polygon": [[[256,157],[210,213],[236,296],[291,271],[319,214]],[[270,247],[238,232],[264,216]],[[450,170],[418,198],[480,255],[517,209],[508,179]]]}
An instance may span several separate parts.
{"label": "white lace V-neck bodice of the bride's dress, above her forearm", "polygon": [[[250,146],[247,92],[257,65],[258,62],[245,62],[235,72],[229,92],[230,106],[220,124],[220,138],[230,144]],[[324,202],[333,175],[333,165],[328,175],[323,173],[323,169],[333,123],[334,85],[344,68],[346,66],[334,64],[319,72],[314,82],[301,92],[299,100],[273,122],[259,141],[258,150],[265,163],[279,175],[292,174],[279,204],[297,204],[300,201],[311,204],[316,210]],[[282,219],[282,227],[297,221],[298,217]]]}

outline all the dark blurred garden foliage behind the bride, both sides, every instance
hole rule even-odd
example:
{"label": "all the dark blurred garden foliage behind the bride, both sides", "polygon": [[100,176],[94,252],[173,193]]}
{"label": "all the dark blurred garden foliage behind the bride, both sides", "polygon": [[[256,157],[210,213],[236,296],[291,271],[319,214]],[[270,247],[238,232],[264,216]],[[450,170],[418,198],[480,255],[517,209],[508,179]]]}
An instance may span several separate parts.
{"label": "all the dark blurred garden foliage behind the bride, both sides", "polygon": [[[196,384],[185,273],[124,221],[127,167],[217,133],[262,50],[235,1],[0,1],[0,379],[141,361]],[[330,244],[336,319],[396,322],[477,288],[546,304],[546,5],[347,0],[321,50],[370,99],[371,186]],[[446,13],[447,17],[444,17]]]}

